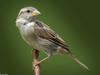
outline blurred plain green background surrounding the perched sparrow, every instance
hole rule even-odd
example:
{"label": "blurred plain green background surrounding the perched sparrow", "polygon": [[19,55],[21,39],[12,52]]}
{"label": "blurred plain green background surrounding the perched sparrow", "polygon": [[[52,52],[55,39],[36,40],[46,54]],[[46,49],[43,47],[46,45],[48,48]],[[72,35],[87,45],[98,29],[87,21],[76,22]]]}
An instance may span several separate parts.
{"label": "blurred plain green background surrounding the perched sparrow", "polygon": [[[18,12],[34,6],[37,18],[53,28],[90,71],[67,55],[56,55],[41,64],[41,75],[100,74],[99,0],[0,0],[0,74],[33,75],[31,47],[15,25]],[[41,52],[41,59],[46,55]]]}

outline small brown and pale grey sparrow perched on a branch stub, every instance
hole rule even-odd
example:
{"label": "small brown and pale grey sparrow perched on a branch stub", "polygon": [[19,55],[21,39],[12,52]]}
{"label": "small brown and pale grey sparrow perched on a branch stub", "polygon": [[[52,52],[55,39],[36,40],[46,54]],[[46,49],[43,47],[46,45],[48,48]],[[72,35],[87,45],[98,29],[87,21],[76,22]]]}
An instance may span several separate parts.
{"label": "small brown and pale grey sparrow perched on a branch stub", "polygon": [[88,70],[89,68],[77,59],[66,42],[47,24],[37,19],[37,16],[40,14],[38,9],[28,6],[22,8],[16,18],[16,26],[23,40],[33,49],[43,51],[47,55],[40,62],[57,53],[62,53],[67,54],[71,59]]}

